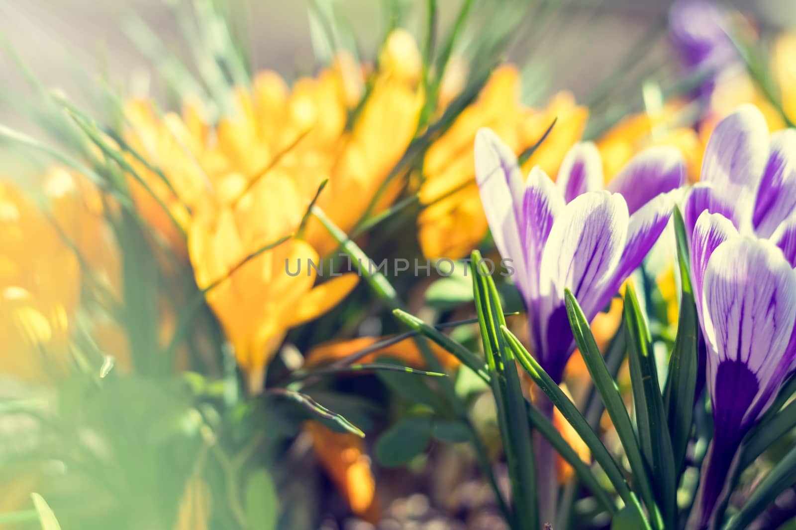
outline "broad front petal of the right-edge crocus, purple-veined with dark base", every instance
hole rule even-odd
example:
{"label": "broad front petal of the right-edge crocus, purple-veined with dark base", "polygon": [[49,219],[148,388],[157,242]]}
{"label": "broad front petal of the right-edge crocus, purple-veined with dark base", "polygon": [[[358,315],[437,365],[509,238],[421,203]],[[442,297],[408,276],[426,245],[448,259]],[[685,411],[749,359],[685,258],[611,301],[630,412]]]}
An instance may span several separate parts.
{"label": "broad front petal of the right-edge crocus, purple-veined with dark base", "polygon": [[[704,274],[704,334],[708,343],[708,388],[716,414],[742,421],[759,417],[794,359],[790,339],[796,322],[796,273],[767,239],[734,237],[710,257]],[[745,410],[722,388],[754,374],[758,389]],[[724,366],[724,369],[722,369]],[[732,366],[728,368],[727,366]],[[731,377],[732,376],[732,377]],[[732,427],[728,425],[726,427]]]}

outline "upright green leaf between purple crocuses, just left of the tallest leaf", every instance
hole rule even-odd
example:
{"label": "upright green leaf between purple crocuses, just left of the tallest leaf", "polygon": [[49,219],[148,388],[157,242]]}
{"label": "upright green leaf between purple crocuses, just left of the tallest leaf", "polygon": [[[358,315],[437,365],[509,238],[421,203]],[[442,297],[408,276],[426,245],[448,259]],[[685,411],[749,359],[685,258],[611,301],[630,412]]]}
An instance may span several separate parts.
{"label": "upright green leaf between purple crocuses, just left of the tallest leaf", "polygon": [[652,474],[657,502],[670,527],[675,524],[677,512],[677,470],[674,467],[672,440],[666,424],[661,387],[657,382],[650,331],[630,283],[625,293],[624,313],[638,437]]}

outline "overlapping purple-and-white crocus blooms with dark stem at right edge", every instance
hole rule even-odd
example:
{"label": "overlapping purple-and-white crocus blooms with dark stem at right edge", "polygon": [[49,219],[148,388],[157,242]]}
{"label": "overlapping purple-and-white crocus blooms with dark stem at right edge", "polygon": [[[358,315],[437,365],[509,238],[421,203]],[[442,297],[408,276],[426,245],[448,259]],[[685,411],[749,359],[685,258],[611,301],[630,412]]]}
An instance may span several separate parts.
{"label": "overlapping purple-and-white crocus blooms with dark stem at right edge", "polygon": [[796,358],[796,130],[754,106],[713,131],[686,201],[714,436],[689,528],[710,524],[743,435]]}

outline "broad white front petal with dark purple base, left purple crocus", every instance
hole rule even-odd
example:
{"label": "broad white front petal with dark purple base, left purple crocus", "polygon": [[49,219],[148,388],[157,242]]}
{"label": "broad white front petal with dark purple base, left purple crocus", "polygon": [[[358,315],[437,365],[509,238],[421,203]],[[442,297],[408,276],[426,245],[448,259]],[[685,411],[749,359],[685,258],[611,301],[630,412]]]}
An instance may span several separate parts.
{"label": "broad white front petal with dark purple base, left purple crocus", "polygon": [[595,306],[595,297],[614,277],[622,257],[629,218],[622,195],[601,190],[579,195],[553,222],[542,253],[543,299],[530,318],[540,337],[539,362],[554,379],[560,379],[574,350],[564,288],[572,291],[581,306]]}

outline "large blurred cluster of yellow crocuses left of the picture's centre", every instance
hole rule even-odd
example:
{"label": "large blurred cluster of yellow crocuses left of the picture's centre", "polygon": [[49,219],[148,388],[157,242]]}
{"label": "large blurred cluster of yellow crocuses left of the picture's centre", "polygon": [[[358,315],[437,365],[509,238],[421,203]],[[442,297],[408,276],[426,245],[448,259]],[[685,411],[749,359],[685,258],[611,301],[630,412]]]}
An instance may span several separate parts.
{"label": "large blurred cluster of yellow crocuses left of the picture's centre", "polygon": [[[366,69],[338,56],[293,87],[274,72],[257,75],[251,89],[232,92],[215,126],[192,102],[182,117],[162,119],[146,103],[128,105],[127,143],[159,169],[131,157],[146,184],[133,184],[139,211],[178,248],[185,231],[200,288],[229,276],[207,298],[251,385],[288,329],[328,311],[356,283],[346,276],[314,287],[307,264],[338,242],[305,214],[324,182],[315,204],[346,232],[396,198],[400,179],[388,176],[416,133],[421,68],[412,37],[396,30],[367,90]],[[300,265],[298,275],[287,273]]]}

